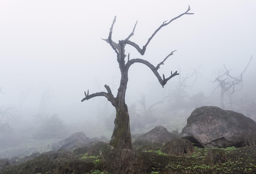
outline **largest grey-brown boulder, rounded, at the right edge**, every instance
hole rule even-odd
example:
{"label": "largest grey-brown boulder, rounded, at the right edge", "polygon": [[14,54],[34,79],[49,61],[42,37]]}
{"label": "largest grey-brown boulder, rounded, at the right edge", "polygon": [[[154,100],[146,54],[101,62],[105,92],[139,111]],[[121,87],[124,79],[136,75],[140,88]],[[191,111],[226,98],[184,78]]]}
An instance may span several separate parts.
{"label": "largest grey-brown boulder, rounded, at the right edge", "polygon": [[256,144],[256,123],[243,114],[215,106],[196,108],[181,138],[203,147],[242,147]]}

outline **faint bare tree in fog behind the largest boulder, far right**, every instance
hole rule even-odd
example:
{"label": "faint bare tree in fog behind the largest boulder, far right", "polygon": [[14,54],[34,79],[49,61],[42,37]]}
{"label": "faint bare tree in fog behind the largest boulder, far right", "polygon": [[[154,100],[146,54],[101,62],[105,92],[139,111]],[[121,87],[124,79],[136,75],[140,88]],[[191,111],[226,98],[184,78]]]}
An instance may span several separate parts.
{"label": "faint bare tree in fog behind the largest boulder, far right", "polygon": [[[248,62],[247,66],[245,67],[245,70],[247,69],[248,65],[250,64],[252,60],[252,57],[250,59],[250,61]],[[224,94],[229,92],[229,100],[230,100],[230,103],[232,103],[231,101],[231,95],[235,92],[235,86],[237,85],[240,85],[240,89],[243,88],[243,85],[242,85],[242,81],[243,81],[243,73],[245,72],[245,70],[240,74],[240,77],[235,77],[235,76],[231,76],[230,75],[230,71],[232,70],[228,70],[226,67],[225,67],[225,64],[224,65],[224,68],[225,68],[225,73],[218,76],[213,83],[215,82],[218,82],[219,86],[220,87],[220,107],[222,109],[225,109],[225,105],[224,105]],[[217,88],[218,88],[217,87]],[[213,90],[215,91],[215,89]],[[236,90],[237,91],[237,90]]]}

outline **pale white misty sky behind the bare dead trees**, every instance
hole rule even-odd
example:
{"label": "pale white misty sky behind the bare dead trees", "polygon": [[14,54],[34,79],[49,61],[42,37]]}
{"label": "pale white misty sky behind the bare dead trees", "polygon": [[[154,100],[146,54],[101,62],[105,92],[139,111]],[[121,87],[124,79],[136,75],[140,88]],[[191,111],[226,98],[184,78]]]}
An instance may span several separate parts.
{"label": "pale white misty sky behind the bare dead trees", "polygon": [[[108,37],[114,17],[112,39],[125,39],[138,21],[130,40],[142,47],[162,22],[184,13],[188,5],[189,12],[195,14],[182,16],[161,29],[143,57],[131,47],[126,54],[157,65],[177,50],[160,67],[159,74],[168,76],[180,66],[186,75],[193,71],[190,67],[201,65],[202,77],[191,91],[194,94],[212,90],[209,81],[216,78],[223,63],[239,75],[252,55],[243,80],[255,80],[255,0],[1,0],[0,87],[4,94],[0,94],[0,105],[35,115],[42,90],[49,89],[50,114],[65,120],[95,117],[99,101],[107,101],[93,98],[81,103],[83,92],[105,91],[107,84],[116,94],[119,85],[116,54],[101,40]],[[161,98],[176,83],[177,78],[173,78],[163,89],[146,66],[135,64],[129,71],[127,103],[139,100],[140,93],[146,94],[149,104],[154,103],[153,99]]]}

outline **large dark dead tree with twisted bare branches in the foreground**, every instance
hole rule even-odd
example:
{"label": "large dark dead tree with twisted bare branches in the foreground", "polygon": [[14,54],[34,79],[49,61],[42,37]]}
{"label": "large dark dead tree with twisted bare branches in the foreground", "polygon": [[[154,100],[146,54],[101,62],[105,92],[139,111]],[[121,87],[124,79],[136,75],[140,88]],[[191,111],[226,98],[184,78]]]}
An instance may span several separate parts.
{"label": "large dark dead tree with twisted bare branches in the foreground", "polygon": [[164,87],[164,85],[167,83],[168,80],[173,78],[174,76],[177,76],[178,73],[175,71],[174,73],[171,71],[171,76],[168,78],[165,78],[164,74],[163,77],[161,77],[158,73],[158,69],[160,65],[164,65],[165,60],[173,55],[173,53],[176,51],[172,51],[162,62],[160,62],[157,66],[152,65],[150,62],[144,59],[140,58],[133,58],[130,59],[130,54],[126,57],[125,53],[125,47],[126,45],[130,45],[134,47],[141,56],[144,55],[146,48],[149,44],[149,42],[152,40],[152,38],[155,36],[155,34],[162,29],[162,27],[170,24],[177,18],[180,18],[183,15],[187,14],[193,14],[193,13],[188,13],[190,10],[190,7],[182,14],[179,16],[169,20],[169,21],[164,21],[162,25],[160,25],[155,32],[152,34],[152,36],[148,39],[146,44],[142,47],[142,49],[137,45],[135,42],[130,41],[130,38],[134,35],[135,27],[137,25],[137,22],[135,23],[135,26],[130,33],[130,35],[125,39],[125,40],[119,40],[118,42],[114,42],[112,40],[112,31],[114,24],[116,22],[116,16],[112,22],[112,25],[110,27],[110,32],[109,36],[107,39],[103,39],[108,44],[112,47],[112,49],[115,51],[117,54],[117,62],[119,63],[119,69],[121,72],[121,80],[120,80],[120,85],[117,91],[117,96],[114,97],[112,94],[112,91],[108,85],[104,85],[106,88],[107,92],[97,92],[93,94],[89,94],[89,90],[85,92],[85,98],[83,98],[81,101],[83,102],[84,100],[89,100],[90,98],[96,97],[96,96],[105,96],[111,104],[115,107],[116,109],[116,118],[115,118],[115,127],[114,131],[110,140],[110,145],[114,148],[121,148],[121,149],[132,149],[132,141],[131,141],[131,134],[130,134],[130,121],[129,121],[129,114],[128,114],[128,107],[125,103],[125,94],[126,94],[126,88],[127,88],[127,83],[128,83],[128,69],[130,68],[131,65],[134,63],[142,63],[146,65],[148,68],[150,68],[155,76],[157,77],[159,83]]}

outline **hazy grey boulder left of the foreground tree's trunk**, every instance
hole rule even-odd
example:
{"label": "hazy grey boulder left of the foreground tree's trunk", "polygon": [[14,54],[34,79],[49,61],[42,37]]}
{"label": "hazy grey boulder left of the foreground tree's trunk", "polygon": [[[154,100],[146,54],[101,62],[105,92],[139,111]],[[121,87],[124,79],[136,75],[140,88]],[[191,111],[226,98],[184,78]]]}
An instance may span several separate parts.
{"label": "hazy grey boulder left of the foreground tree's trunk", "polygon": [[90,138],[83,132],[76,132],[58,143],[60,149],[75,149],[83,147],[90,142]]}

